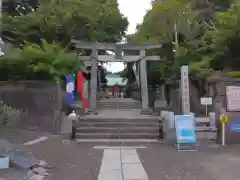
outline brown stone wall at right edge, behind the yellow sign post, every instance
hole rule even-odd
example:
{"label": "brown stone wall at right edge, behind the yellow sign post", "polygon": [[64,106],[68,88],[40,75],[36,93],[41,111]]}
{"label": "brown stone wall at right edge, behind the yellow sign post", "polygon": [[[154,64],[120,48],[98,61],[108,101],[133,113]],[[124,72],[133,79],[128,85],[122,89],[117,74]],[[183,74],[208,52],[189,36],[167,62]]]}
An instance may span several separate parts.
{"label": "brown stone wall at right edge, behind the yellow sign post", "polygon": [[239,101],[237,98],[239,97],[240,92],[239,90],[236,90],[236,92],[231,92],[233,94],[230,95],[231,97],[228,97],[226,89],[228,86],[239,88],[240,78],[227,77],[224,76],[221,72],[216,72],[211,77],[209,77],[208,81],[210,83],[211,95],[214,97],[213,108],[216,112],[216,125],[218,129],[217,142],[221,143],[222,128],[219,117],[224,113],[229,117],[229,122],[226,125],[226,144],[240,144],[240,130],[231,130],[233,127],[240,127],[240,103],[237,105],[238,110],[230,110],[228,109],[227,105],[228,98],[232,98],[235,102],[238,103]]}

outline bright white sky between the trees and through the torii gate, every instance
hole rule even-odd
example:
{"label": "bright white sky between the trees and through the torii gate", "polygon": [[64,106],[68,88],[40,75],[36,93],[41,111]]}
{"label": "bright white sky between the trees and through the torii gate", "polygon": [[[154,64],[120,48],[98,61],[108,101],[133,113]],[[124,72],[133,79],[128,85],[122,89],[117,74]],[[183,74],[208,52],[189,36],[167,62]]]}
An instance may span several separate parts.
{"label": "bright white sky between the trees and through the torii gate", "polygon": [[[128,18],[129,26],[127,34],[136,32],[136,26],[141,24],[147,10],[151,8],[151,0],[118,0],[121,13]],[[124,69],[121,62],[105,65],[108,71],[119,72]]]}

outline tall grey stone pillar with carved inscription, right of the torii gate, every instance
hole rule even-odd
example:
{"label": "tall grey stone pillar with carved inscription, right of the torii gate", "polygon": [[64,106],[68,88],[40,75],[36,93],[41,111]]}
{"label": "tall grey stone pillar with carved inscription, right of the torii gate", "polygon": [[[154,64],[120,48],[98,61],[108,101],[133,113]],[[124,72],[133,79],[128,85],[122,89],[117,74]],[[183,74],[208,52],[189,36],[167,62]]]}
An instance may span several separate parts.
{"label": "tall grey stone pillar with carved inscription, right of the torii gate", "polygon": [[181,67],[182,113],[190,113],[188,66]]}

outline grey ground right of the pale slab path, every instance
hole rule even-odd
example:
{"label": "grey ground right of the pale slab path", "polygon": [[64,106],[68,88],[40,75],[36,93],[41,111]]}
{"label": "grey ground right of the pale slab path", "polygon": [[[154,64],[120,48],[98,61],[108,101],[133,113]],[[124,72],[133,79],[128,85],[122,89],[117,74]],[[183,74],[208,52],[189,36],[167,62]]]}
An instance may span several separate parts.
{"label": "grey ground right of the pale slab path", "polygon": [[149,180],[238,180],[239,149],[203,144],[196,152],[177,152],[173,147],[150,145],[138,152]]}

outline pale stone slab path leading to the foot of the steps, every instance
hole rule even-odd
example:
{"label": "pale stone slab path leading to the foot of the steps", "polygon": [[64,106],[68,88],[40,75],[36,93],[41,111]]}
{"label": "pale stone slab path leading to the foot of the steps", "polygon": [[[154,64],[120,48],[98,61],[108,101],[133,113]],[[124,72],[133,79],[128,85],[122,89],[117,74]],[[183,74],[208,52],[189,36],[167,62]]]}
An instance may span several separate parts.
{"label": "pale stone slab path leading to the foot of the steps", "polygon": [[148,180],[135,148],[104,149],[98,180]]}

